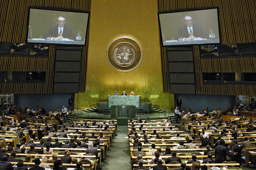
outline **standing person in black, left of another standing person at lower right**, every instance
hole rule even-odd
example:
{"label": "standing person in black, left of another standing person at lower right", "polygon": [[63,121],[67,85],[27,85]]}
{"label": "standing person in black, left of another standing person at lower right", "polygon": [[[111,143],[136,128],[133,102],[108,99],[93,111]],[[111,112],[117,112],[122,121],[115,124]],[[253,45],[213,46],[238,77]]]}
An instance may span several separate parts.
{"label": "standing person in black, left of another standing person at lower right", "polygon": [[215,148],[215,161],[216,163],[222,163],[227,159],[227,147],[224,146],[225,141],[220,140],[219,146]]}

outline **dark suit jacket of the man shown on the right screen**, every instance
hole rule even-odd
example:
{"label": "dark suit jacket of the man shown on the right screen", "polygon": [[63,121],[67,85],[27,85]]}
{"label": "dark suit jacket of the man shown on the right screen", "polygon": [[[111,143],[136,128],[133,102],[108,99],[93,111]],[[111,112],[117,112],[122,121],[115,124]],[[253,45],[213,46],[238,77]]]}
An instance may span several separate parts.
{"label": "dark suit jacket of the man shown on the right screen", "polygon": [[[193,24],[193,36],[200,38],[209,38],[209,35],[204,31],[202,26]],[[178,40],[179,37],[187,38],[189,37],[189,32],[186,25],[180,26],[178,32],[175,36],[175,40]]]}

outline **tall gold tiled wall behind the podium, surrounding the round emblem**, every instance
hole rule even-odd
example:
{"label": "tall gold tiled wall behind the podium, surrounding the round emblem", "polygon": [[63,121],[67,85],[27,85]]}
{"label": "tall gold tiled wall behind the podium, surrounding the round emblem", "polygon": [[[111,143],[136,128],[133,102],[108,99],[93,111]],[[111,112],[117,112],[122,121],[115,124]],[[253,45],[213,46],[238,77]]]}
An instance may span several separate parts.
{"label": "tall gold tiled wall behind the podium, surrounding the round emblem", "polygon": [[[171,95],[163,93],[157,0],[93,0],[90,12],[87,88],[76,94],[76,109],[107,101],[116,90],[171,109]],[[135,38],[143,49],[140,66],[131,72],[119,72],[107,61],[108,44],[119,36]]]}

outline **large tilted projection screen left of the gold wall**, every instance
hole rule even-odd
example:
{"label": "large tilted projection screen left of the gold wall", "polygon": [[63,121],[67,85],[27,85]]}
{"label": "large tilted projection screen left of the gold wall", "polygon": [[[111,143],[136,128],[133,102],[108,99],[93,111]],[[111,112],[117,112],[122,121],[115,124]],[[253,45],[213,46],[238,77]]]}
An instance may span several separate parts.
{"label": "large tilted projection screen left of the gold wall", "polygon": [[88,12],[30,7],[26,40],[28,43],[85,45],[88,20]]}

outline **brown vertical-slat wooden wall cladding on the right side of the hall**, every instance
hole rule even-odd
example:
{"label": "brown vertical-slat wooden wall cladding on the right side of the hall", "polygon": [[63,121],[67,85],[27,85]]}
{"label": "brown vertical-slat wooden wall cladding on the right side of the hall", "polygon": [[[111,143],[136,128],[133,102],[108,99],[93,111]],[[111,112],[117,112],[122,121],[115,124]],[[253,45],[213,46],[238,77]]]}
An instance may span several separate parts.
{"label": "brown vertical-slat wooden wall cladding on the right side of the hall", "polygon": [[[222,43],[256,42],[255,0],[158,0],[158,11],[169,12],[184,9],[219,7]],[[166,57],[162,48],[162,61]],[[200,58],[199,46],[193,46],[195,61],[195,84],[197,94],[256,95],[255,85],[204,84],[203,72],[256,72],[255,56],[229,58]],[[164,86],[169,81],[164,76]]]}

